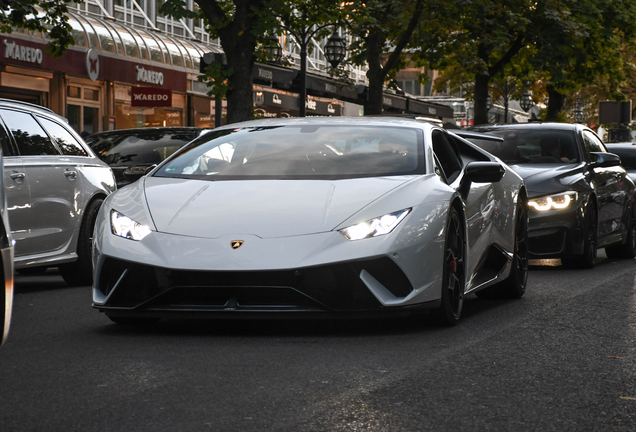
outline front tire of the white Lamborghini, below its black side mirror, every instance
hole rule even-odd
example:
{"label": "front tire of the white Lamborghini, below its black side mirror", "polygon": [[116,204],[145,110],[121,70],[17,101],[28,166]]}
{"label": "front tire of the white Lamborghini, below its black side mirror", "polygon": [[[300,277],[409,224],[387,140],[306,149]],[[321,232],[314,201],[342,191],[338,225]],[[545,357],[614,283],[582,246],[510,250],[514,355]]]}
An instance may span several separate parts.
{"label": "front tire of the white Lamborghini, below its black side mirror", "polygon": [[451,207],[444,243],[442,301],[439,308],[433,312],[433,317],[438,324],[454,326],[461,317],[466,282],[464,253],[464,226],[457,210]]}

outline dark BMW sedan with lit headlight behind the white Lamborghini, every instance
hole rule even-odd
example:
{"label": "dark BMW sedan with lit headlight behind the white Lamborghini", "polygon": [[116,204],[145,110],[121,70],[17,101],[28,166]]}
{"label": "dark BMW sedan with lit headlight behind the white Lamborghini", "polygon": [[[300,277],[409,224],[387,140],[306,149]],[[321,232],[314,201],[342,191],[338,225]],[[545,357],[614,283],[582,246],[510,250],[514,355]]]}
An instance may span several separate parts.
{"label": "dark BMW sedan with lit headlight behind the white Lamborghini", "polygon": [[493,136],[464,134],[526,182],[531,258],[561,258],[566,267],[592,268],[598,248],[610,258],[636,256],[634,182],[594,131],[564,123],[471,131]]}

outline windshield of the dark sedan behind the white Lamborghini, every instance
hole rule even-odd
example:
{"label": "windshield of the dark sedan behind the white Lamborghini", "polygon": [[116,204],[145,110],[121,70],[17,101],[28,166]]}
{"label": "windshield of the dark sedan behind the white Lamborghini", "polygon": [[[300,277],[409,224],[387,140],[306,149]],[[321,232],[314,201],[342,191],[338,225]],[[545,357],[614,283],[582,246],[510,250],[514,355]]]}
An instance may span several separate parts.
{"label": "windshield of the dark sedan behind the white Lamborghini", "polygon": [[468,139],[508,165],[563,164],[581,161],[574,131],[506,128],[483,133],[499,136],[504,141]]}

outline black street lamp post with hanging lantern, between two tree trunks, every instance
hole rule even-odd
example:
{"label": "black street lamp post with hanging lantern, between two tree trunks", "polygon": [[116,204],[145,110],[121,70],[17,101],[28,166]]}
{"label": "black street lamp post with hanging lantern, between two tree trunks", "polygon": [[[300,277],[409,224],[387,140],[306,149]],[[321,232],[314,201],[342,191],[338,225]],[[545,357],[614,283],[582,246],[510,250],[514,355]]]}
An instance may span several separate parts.
{"label": "black street lamp post with hanging lantern, between two tree trunks", "polygon": [[300,46],[300,89],[298,92],[298,100],[300,103],[299,116],[305,117],[307,114],[307,47],[311,42],[311,39],[320,30],[325,27],[334,27],[333,34],[327,40],[325,45],[325,57],[334,69],[338,67],[340,62],[344,60],[347,52],[347,47],[344,39],[337,33],[337,23],[329,23],[321,26],[309,26],[301,30],[293,30],[289,27],[281,25],[281,27],[290,35],[296,39],[296,42]]}

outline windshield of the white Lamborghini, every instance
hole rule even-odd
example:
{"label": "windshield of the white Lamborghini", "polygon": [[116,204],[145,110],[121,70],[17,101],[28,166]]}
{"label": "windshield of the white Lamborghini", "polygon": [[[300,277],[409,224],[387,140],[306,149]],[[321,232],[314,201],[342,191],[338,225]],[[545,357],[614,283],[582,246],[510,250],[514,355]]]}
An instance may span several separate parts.
{"label": "windshield of the white Lamborghini", "polygon": [[274,126],[212,131],[156,177],[209,180],[334,179],[425,172],[419,129]]}

